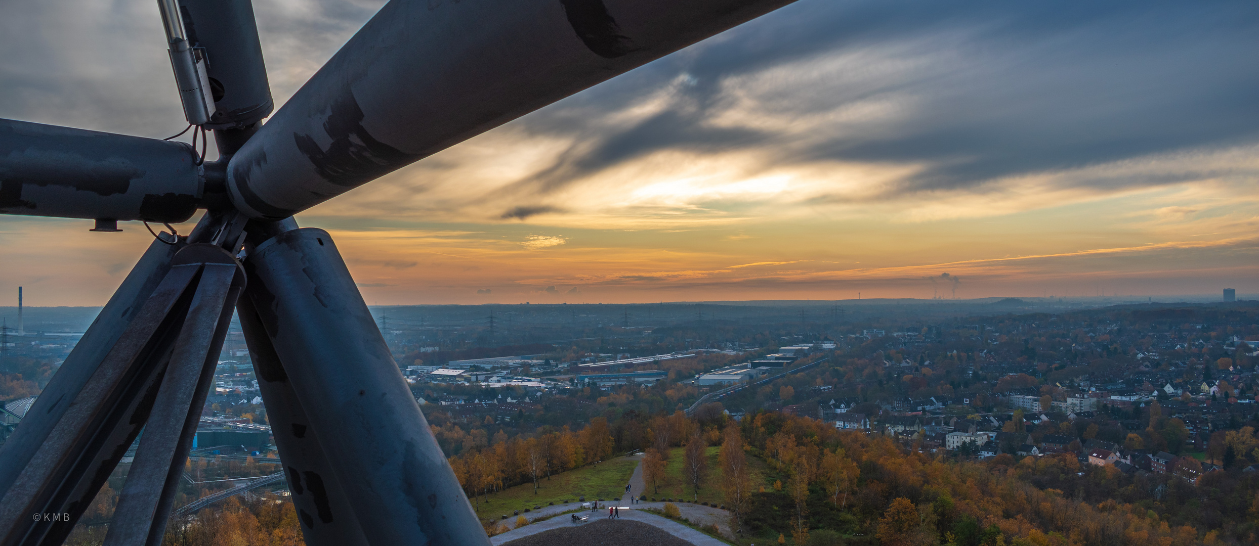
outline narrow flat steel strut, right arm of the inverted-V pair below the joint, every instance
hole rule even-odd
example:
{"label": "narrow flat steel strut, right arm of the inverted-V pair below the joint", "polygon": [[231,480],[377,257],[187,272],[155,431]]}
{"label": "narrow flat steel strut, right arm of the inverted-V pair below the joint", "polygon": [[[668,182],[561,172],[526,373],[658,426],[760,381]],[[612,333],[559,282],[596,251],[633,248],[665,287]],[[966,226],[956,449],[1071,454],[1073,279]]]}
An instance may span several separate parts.
{"label": "narrow flat steel strut, right arm of the inverted-V pair below the joint", "polygon": [[175,260],[178,264],[200,263],[200,279],[170,364],[162,374],[140,449],[118,494],[104,540],[107,546],[161,543],[232,322],[232,308],[244,288],[240,264],[219,247],[189,245]]}

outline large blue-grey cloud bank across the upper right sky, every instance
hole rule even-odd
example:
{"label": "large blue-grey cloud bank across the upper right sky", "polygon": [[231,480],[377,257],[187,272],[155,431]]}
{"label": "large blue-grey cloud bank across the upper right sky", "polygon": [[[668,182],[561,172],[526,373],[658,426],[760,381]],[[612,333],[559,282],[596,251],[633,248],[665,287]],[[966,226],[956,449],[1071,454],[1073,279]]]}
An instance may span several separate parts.
{"label": "large blue-grey cloud bank across the upper right sky", "polygon": [[[908,3],[802,0],[697,47],[526,117],[538,133],[578,136],[555,165],[521,180],[549,192],[661,150],[776,148],[779,164],[825,160],[929,167],[885,190],[973,186],[1144,155],[1259,140],[1256,3]],[[872,97],[909,97],[913,112],[871,126],[837,123],[805,145],[755,128],[713,127],[731,78],[787,63],[878,52],[872,62],[925,65],[762,97],[759,108],[807,120]],[[890,57],[889,57],[890,55]],[[854,67],[861,69],[862,67]],[[679,78],[685,79],[679,83]],[[667,89],[663,111],[630,126],[597,122]],[[1178,174],[1080,180],[1156,185]]]}

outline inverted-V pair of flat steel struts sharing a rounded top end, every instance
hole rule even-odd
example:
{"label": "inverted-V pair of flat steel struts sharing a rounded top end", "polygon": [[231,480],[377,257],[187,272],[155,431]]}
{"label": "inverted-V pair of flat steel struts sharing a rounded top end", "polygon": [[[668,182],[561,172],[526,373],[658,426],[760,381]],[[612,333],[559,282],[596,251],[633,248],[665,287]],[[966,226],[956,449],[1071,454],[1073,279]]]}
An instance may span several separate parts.
{"label": "inverted-V pair of flat steel struts sharing a rounded top end", "polygon": [[108,540],[160,543],[243,288],[244,272],[223,248],[184,245],[172,257],[137,317],[5,492],[0,543],[60,543],[141,428],[147,434]]}

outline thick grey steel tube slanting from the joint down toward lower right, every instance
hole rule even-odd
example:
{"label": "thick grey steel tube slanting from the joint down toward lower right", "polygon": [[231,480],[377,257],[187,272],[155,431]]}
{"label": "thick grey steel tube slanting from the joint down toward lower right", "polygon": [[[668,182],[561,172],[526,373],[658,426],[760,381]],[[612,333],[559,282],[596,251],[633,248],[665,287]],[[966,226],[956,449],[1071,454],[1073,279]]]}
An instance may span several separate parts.
{"label": "thick grey steel tube slanting from the joint down toward lower right", "polygon": [[[488,546],[327,231],[276,235],[244,267],[252,303],[278,360],[293,364],[287,382],[331,468],[290,473],[290,488],[319,498],[335,482],[373,545]],[[340,517],[331,507],[326,516]]]}

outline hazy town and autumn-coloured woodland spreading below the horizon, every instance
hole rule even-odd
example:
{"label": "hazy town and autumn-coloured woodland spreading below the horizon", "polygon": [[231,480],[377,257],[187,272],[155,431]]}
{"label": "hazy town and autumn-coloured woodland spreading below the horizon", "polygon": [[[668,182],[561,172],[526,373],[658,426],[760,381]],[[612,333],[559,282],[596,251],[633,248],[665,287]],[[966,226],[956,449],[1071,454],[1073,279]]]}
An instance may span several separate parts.
{"label": "hazy town and autumn-coloured woodland spreading below the horizon", "polygon": [[[1259,304],[1224,294],[371,313],[491,537],[633,498],[740,545],[1244,543],[1259,494]],[[8,331],[6,432],[91,315],[30,308],[24,335]],[[269,501],[292,486],[256,370],[229,330],[170,543],[297,540],[297,516]],[[79,540],[108,522],[133,455]],[[1026,501],[988,506],[1015,491]]]}

